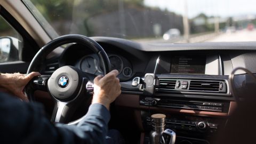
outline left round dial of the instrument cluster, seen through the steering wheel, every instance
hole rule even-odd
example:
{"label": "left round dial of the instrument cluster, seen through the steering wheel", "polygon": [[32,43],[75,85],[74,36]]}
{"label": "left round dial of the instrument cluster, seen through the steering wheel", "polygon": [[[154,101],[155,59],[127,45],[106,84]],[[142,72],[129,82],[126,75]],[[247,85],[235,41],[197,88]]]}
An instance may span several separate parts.
{"label": "left round dial of the instrument cluster, seen through the steering wheel", "polygon": [[80,63],[80,69],[85,73],[95,74],[98,70],[99,63],[92,56],[86,56]]}

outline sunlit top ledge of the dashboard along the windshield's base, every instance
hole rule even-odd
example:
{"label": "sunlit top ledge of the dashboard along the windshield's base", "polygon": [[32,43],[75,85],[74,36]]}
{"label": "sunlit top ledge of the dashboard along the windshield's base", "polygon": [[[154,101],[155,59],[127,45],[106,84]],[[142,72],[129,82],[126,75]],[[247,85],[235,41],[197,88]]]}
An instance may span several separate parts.
{"label": "sunlit top ledge of the dashboard along the windshield's base", "polygon": [[[114,37],[91,37],[97,42],[105,42],[113,45],[130,46],[134,49],[147,52],[161,51],[197,51],[197,50],[256,50],[256,42],[204,42],[204,43],[159,43],[145,44],[133,42],[127,39]],[[135,50],[132,51],[135,51]]]}

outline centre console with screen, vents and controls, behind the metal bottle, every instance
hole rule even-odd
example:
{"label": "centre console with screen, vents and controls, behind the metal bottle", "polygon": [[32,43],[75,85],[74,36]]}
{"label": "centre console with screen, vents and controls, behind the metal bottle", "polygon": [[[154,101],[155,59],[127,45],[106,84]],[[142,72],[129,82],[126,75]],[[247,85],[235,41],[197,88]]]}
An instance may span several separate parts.
{"label": "centre console with screen, vents and controls, behind the metal bottle", "polygon": [[166,115],[165,127],[177,133],[178,144],[211,143],[225,127],[234,99],[219,55],[158,57],[155,73],[134,81],[143,90],[142,143],[149,142],[150,116],[157,113]]}

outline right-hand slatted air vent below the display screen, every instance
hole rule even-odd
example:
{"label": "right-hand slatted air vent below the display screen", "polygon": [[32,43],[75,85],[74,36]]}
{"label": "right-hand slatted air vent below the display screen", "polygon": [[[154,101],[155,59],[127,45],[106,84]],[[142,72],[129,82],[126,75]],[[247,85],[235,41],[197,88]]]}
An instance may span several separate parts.
{"label": "right-hand slatted air vent below the display screen", "polygon": [[189,90],[219,92],[220,83],[219,81],[190,81]]}

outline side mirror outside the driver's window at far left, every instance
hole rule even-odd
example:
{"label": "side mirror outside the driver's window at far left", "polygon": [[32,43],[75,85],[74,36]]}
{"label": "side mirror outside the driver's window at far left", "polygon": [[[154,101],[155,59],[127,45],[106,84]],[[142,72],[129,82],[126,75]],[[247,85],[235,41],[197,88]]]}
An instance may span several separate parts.
{"label": "side mirror outside the driver's window at far left", "polygon": [[14,37],[0,37],[0,63],[19,60],[18,42]]}

